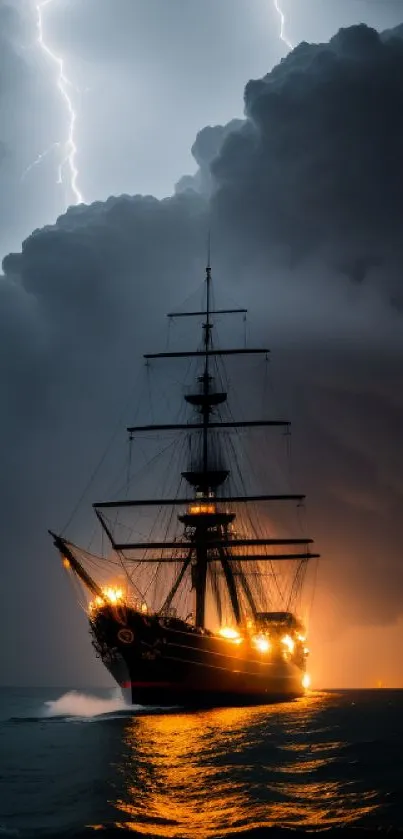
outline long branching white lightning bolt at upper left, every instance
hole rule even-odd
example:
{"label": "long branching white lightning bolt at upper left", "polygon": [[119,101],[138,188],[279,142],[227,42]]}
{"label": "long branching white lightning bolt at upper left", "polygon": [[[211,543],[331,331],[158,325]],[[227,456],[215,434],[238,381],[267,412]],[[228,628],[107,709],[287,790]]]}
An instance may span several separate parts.
{"label": "long branching white lightning bolt at upper left", "polygon": [[[76,128],[76,121],[77,121],[77,114],[74,110],[73,102],[69,95],[69,89],[72,87],[70,80],[67,78],[64,72],[64,61],[53,50],[49,47],[49,45],[45,41],[44,37],[44,29],[43,29],[43,9],[46,6],[49,6],[53,0],[42,0],[41,3],[36,4],[36,20],[37,20],[37,30],[38,30],[38,44],[41,50],[45,53],[47,58],[49,58],[57,67],[57,88],[60,92],[60,95],[64,101],[67,116],[68,116],[68,135],[67,140],[63,143],[63,147],[65,150],[64,157],[61,160],[59,167],[58,167],[58,184],[63,184],[63,172],[65,169],[69,172],[69,181],[70,181],[70,190],[74,197],[74,201],[76,204],[82,204],[84,202],[84,198],[80,189],[78,187],[78,169],[76,165],[76,156],[77,156],[77,146],[75,143],[75,128]],[[55,144],[54,144],[55,145]],[[47,152],[43,152],[42,155],[39,155],[36,161],[28,167],[28,170],[35,166],[37,163],[46,156],[46,154],[50,151],[48,149]],[[27,170],[25,172],[27,174]]]}

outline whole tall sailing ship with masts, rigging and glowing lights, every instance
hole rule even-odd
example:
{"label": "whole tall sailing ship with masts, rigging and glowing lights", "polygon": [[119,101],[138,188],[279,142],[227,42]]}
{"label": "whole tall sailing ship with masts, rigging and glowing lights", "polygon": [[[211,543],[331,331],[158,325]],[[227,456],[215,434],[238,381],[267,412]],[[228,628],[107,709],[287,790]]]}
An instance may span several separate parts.
{"label": "whole tall sailing ship with masts, rigging and glowing lights", "polygon": [[[217,323],[246,310],[219,309],[212,294],[208,259],[201,308],[169,315],[201,322],[198,346],[145,356],[159,367],[182,360],[193,379],[181,421],[128,428],[130,441],[155,436],[170,452],[156,496],[128,492],[128,481],[123,498],[93,504],[103,543],[96,552],[49,531],[85,595],[96,654],[132,704],[261,704],[309,687],[299,610],[319,555],[298,519],[304,495],[250,489],[253,458],[263,480],[275,474],[261,435],[288,435],[290,423],[233,416],[229,395],[242,377],[228,381],[228,365],[266,361],[269,350],[221,348]],[[289,507],[298,535],[284,516]]]}

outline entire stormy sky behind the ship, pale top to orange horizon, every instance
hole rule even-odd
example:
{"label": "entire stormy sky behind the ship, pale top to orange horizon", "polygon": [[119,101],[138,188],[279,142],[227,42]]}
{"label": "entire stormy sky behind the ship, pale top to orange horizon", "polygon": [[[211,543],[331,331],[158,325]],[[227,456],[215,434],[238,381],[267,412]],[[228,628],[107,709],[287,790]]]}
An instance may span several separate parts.
{"label": "entire stormy sky behind the ship, pale top to orange horizon", "polygon": [[[283,0],[288,55],[270,0],[42,6],[41,46],[36,3],[0,0],[1,680],[104,679],[46,529],[198,284],[209,217],[295,422],[316,681],[403,686],[403,0]],[[76,112],[67,212],[44,46]]]}

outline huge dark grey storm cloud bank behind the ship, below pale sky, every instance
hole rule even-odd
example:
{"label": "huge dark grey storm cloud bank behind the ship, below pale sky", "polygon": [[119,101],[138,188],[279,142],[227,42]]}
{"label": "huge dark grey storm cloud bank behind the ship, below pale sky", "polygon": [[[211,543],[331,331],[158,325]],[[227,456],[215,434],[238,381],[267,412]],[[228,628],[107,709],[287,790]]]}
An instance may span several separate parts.
{"label": "huge dark grey storm cloud bank behind the ship, below pale sky", "polygon": [[178,194],[70,209],[5,258],[6,678],[16,658],[29,680],[51,667],[59,682],[95,673],[45,531],[64,524],[96,463],[135,354],[161,340],[163,312],[202,276],[208,219],[221,294],[251,304],[273,347],[338,620],[401,614],[402,70],[393,33],[301,44],[248,83],[244,121],[200,132],[200,174]]}

